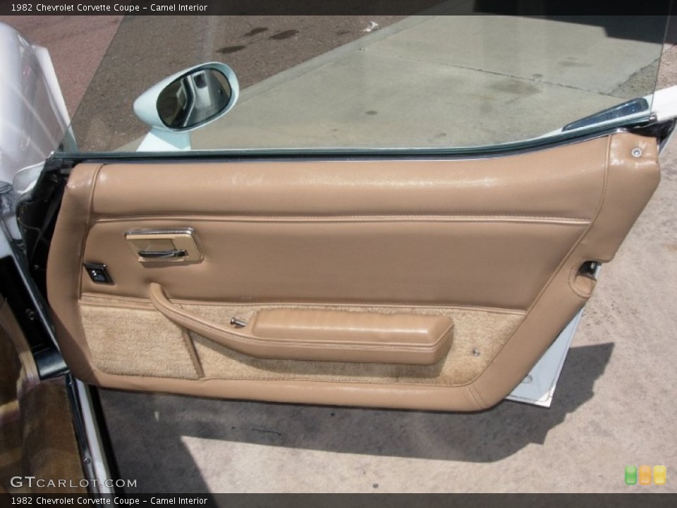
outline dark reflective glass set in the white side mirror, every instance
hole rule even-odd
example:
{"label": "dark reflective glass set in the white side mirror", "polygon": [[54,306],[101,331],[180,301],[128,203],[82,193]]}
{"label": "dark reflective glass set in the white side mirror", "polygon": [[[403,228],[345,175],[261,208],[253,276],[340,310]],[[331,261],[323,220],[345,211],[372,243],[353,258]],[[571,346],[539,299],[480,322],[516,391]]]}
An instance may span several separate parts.
{"label": "dark reflective glass set in the white side mirror", "polygon": [[231,85],[221,72],[202,68],[167,85],[157,98],[157,112],[169,128],[193,128],[224,111]]}

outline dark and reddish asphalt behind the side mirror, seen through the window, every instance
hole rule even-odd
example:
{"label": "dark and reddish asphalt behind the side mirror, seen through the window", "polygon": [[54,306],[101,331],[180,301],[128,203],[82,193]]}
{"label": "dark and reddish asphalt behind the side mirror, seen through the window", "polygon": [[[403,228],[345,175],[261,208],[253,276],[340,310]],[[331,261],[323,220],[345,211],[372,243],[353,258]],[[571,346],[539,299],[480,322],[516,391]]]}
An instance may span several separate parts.
{"label": "dark and reddish asphalt behind the side mirror, seen through the window", "polygon": [[[130,114],[134,99],[182,68],[226,61],[246,88],[362,37],[372,21],[383,28],[401,18],[0,16],[0,21],[50,49],[80,148],[106,151],[147,132]],[[106,49],[109,58],[99,66]],[[80,102],[87,87],[90,92]]]}

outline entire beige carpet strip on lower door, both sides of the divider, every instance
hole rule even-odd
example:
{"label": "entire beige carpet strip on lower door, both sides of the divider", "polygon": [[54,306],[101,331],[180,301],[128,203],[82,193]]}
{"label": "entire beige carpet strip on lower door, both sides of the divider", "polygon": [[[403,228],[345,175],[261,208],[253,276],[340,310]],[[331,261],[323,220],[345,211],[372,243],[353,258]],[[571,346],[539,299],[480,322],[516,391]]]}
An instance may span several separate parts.
{"label": "entire beige carpet strip on lower door, both sides of the divider", "polygon": [[[401,306],[308,306],[180,303],[188,312],[214,322],[231,317],[250,320],[270,308],[331,309],[376,313],[446,315],[454,335],[448,355],[435,365],[394,365],[253,358],[188,332],[197,358],[182,337],[181,327],[150,303],[83,295],[80,302],[87,344],[97,368],[122,375],[150,375],[226,380],[310,380],[322,382],[401,383],[456,386],[471,382],[489,365],[525,313],[515,310]],[[107,304],[111,303],[110,306]],[[197,362],[195,360],[197,359]],[[201,372],[202,371],[202,372]]]}

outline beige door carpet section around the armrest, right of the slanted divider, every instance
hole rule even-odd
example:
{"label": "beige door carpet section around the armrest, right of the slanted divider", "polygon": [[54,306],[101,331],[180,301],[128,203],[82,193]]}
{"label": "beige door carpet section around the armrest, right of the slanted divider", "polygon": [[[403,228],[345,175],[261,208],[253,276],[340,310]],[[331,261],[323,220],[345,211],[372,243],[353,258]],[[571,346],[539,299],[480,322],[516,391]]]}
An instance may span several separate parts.
{"label": "beige door carpet section around the armrest, right of the slanted divider", "polygon": [[[185,310],[216,322],[234,315],[245,321],[261,307],[182,305]],[[290,308],[274,306],[270,308]],[[295,308],[301,308],[297,306]],[[303,306],[303,308],[320,308]],[[326,307],[324,307],[326,308]],[[341,363],[264,360],[252,358],[190,333],[206,377],[233,380],[297,380],[324,382],[402,383],[405,385],[465,385],[489,365],[523,319],[523,313],[446,308],[332,306],[332,310],[376,313],[446,315],[453,320],[453,341],[447,356],[435,365]],[[476,352],[479,354],[475,353]]]}

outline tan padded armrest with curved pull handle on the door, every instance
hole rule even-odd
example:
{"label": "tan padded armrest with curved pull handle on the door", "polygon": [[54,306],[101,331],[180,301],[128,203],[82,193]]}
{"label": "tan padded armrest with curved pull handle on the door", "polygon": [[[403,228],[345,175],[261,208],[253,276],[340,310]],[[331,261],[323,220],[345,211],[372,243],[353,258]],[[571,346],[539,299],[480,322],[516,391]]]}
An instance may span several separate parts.
{"label": "tan padded armrest with curved pull handle on the door", "polygon": [[453,333],[446,316],[295,309],[262,310],[236,328],[176,306],[154,282],[150,301],[177,325],[256,358],[432,365]]}

